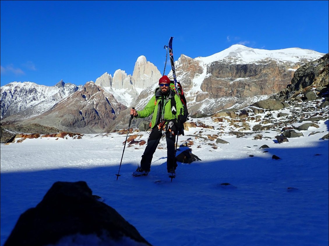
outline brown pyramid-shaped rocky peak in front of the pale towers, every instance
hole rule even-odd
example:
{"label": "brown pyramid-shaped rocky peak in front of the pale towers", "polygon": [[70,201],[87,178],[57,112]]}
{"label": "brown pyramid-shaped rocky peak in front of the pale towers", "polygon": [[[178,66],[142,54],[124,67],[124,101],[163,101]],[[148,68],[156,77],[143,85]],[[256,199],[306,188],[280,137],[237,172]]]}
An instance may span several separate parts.
{"label": "brown pyramid-shaped rocky peak in front of the pale towers", "polygon": [[61,131],[103,133],[121,110],[127,107],[95,83],[87,82],[81,91],[73,93],[52,110],[22,122],[55,127]]}

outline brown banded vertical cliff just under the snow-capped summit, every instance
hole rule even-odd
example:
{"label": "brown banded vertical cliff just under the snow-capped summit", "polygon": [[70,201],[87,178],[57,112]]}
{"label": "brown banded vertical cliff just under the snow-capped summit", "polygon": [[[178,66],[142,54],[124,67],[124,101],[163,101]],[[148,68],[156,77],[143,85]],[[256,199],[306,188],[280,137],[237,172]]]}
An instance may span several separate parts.
{"label": "brown banded vertical cliff just under the snow-capped summit", "polygon": [[286,64],[273,60],[260,64],[230,64],[220,61],[207,66],[201,89],[212,97],[251,97],[269,95],[290,84],[294,71]]}

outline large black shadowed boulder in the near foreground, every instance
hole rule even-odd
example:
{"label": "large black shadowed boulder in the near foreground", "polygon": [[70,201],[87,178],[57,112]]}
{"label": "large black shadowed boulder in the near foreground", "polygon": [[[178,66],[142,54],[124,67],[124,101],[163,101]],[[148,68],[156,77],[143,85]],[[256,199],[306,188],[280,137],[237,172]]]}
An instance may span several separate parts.
{"label": "large black shadowed boulder in the near foreground", "polygon": [[75,237],[82,235],[90,243],[94,238],[95,245],[151,245],[112,207],[97,201],[84,181],[54,183],[19,217],[4,245],[54,245],[61,239],[76,245]]}

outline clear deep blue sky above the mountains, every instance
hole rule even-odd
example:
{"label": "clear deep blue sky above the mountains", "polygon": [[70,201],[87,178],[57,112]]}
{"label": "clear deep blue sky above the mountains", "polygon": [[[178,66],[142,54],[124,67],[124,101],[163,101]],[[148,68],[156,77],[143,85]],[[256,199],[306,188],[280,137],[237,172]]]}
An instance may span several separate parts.
{"label": "clear deep blue sky above the mountains", "polygon": [[1,1],[1,86],[84,85],[117,69],[132,74],[140,55],[163,73],[171,36],[175,61],[233,44],[328,53],[328,2]]}

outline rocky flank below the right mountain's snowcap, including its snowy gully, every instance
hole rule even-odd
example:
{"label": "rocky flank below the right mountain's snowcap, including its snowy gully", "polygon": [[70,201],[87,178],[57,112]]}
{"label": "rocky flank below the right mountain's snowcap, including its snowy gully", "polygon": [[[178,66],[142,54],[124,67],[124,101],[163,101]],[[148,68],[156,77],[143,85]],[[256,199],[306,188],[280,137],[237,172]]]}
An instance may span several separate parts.
{"label": "rocky flank below the right mountain's snowcap, including its snowy gully", "polygon": [[257,64],[236,64],[231,60],[204,64],[182,55],[176,75],[185,89],[189,112],[211,114],[232,106],[242,108],[279,92],[291,83],[300,64],[271,59]]}

